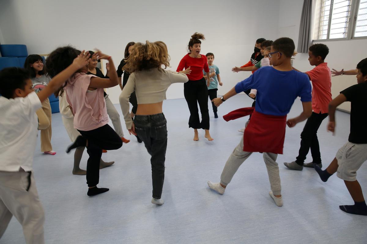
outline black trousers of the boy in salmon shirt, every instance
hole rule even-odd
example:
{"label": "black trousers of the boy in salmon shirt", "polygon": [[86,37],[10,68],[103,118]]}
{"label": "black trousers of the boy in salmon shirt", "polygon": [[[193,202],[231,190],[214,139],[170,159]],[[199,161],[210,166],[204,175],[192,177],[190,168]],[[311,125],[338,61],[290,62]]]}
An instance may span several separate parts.
{"label": "black trousers of the boy in salmon shirt", "polygon": [[315,164],[321,163],[321,154],[319,140],[317,139],[317,130],[321,122],[327,117],[328,113],[315,113],[307,119],[305,127],[301,133],[301,147],[299,148],[296,163],[303,165],[308,151],[311,149],[312,162]]}

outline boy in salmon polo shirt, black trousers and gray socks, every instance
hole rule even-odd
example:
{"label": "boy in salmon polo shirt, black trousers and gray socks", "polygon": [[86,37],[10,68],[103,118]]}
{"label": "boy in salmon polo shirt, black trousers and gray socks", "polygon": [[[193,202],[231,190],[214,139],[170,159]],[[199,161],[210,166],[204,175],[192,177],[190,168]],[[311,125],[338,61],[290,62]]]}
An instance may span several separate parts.
{"label": "boy in salmon polo shirt, black trousers and gray socks", "polygon": [[[308,60],[310,65],[316,67],[305,72],[312,82],[312,115],[307,119],[305,127],[301,133],[301,147],[299,148],[296,161],[284,163],[289,169],[302,170],[303,167],[313,168],[316,164],[320,168],[321,154],[317,130],[321,122],[328,116],[328,104],[331,98],[331,72],[327,63],[324,62],[329,49],[325,44],[314,44],[310,46]],[[312,162],[304,164],[306,155],[311,149]]]}

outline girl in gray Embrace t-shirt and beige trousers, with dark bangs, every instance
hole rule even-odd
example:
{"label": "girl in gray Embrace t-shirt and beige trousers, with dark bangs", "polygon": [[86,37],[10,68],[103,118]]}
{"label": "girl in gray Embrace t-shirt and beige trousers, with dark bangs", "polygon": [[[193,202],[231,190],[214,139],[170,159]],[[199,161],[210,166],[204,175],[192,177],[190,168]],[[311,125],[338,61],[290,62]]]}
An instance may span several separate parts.
{"label": "girl in gray Embrace t-shirt and beige trousers, with dark bangs", "polygon": [[[25,60],[24,68],[30,73],[32,87],[36,93],[42,91],[51,80],[45,72],[43,59],[40,55],[29,55]],[[44,154],[55,155],[56,152],[52,151],[51,145],[51,105],[48,98],[42,102],[42,108],[38,109],[36,114],[39,121],[38,129],[41,130],[41,151]]]}

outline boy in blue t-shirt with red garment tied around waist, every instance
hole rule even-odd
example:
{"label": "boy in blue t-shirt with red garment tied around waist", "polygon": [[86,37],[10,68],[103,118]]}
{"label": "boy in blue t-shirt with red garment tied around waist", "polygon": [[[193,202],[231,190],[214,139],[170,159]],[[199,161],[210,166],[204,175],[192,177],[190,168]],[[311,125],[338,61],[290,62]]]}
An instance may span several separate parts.
{"label": "boy in blue t-shirt with red garment tied around waist", "polygon": [[[279,38],[271,47],[270,55],[274,67],[259,68],[249,78],[237,83],[224,96],[213,100],[214,104],[219,106],[230,97],[249,88],[258,91],[255,109],[237,109],[224,116],[228,121],[249,115],[251,110],[253,111],[240,143],[224,166],[221,181],[219,183],[208,181],[209,187],[219,194],[224,194],[237,169],[253,152],[263,152],[271,188],[269,195],[277,206],[283,206],[276,158],[278,154],[283,154],[286,124],[288,127],[294,127],[312,113],[311,84],[307,75],[292,69],[293,52],[293,40],[287,37]],[[287,121],[287,114],[297,97],[301,97],[303,112]]]}

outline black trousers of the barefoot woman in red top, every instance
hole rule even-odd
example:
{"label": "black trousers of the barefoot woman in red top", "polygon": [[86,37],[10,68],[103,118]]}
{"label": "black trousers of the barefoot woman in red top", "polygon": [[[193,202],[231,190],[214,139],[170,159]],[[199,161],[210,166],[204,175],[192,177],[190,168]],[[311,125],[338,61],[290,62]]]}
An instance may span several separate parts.
{"label": "black trousers of the barefoot woman in red top", "polygon": [[[209,110],[208,110],[208,87],[206,81],[189,80],[183,84],[183,94],[190,110],[189,128],[209,129]],[[199,103],[201,112],[201,122],[199,118]]]}

